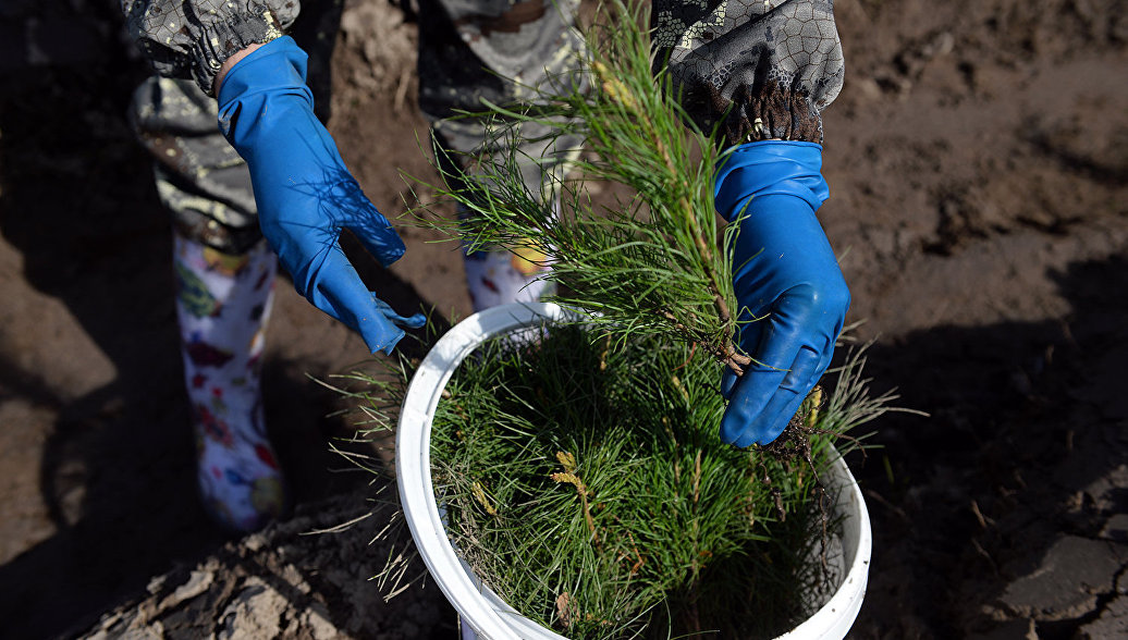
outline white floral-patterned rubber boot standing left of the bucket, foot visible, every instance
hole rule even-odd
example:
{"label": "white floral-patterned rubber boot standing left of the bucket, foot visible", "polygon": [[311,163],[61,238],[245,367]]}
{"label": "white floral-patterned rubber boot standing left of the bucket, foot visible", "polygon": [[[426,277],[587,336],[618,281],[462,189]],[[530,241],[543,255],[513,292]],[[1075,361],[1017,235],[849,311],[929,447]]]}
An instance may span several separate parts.
{"label": "white floral-patterned rubber boot standing left of the bucket, foot visible", "polygon": [[239,256],[178,234],[174,242],[200,494],[221,526],[255,531],[289,506],[259,384],[277,259],[265,242]]}

